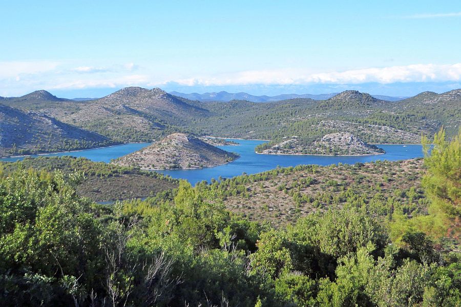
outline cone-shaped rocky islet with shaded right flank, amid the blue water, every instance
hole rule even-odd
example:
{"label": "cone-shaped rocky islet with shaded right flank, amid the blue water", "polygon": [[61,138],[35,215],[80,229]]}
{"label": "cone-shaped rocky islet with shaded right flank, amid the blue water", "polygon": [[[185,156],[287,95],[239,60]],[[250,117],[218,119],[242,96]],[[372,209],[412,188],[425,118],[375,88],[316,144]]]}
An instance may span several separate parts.
{"label": "cone-shaped rocky islet with shaded right flank, amid the blue water", "polygon": [[174,133],[151,146],[120,157],[114,163],[141,169],[213,167],[233,161],[238,155],[219,149],[184,133]]}

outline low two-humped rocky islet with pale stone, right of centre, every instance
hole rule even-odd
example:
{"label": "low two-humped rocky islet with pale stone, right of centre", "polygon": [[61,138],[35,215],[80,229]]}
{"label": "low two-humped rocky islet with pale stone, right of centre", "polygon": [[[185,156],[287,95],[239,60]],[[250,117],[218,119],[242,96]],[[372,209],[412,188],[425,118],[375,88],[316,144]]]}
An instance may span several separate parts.
{"label": "low two-humped rocky islet with pale stone, right of centre", "polygon": [[256,147],[260,154],[289,154],[289,155],[377,155],[385,151],[374,145],[367,144],[359,137],[346,132],[337,132],[324,135],[313,141],[306,141],[297,136],[285,137],[282,141],[268,142]]}

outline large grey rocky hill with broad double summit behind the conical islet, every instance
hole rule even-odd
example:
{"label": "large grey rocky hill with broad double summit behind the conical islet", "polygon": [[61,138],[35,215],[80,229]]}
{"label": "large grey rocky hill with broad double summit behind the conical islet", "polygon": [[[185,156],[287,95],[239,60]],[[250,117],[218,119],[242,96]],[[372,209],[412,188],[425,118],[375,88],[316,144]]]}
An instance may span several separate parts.
{"label": "large grey rocky hill with broad double summit behind the conical islet", "polygon": [[158,88],[128,87],[105,97],[74,102],[75,109],[49,108],[62,121],[95,131],[117,141],[148,141],[203,118],[207,110],[192,106]]}

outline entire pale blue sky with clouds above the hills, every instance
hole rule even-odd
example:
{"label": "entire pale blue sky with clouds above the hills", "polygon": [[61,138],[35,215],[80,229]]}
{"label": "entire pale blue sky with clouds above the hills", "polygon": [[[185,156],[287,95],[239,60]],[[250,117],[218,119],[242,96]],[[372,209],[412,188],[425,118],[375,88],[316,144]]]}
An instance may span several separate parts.
{"label": "entire pale blue sky with clouds above the hills", "polygon": [[0,0],[0,16],[0,96],[461,88],[458,0]]}

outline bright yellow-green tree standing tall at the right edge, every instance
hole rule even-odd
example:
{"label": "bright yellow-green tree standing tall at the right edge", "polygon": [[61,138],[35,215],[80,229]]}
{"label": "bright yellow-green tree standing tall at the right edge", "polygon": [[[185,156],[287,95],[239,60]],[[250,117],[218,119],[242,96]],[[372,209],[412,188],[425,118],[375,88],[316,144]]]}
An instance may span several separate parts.
{"label": "bright yellow-green tree standing tall at the right edge", "polygon": [[425,137],[423,142],[427,172],[422,185],[429,198],[428,214],[412,219],[394,216],[391,237],[401,242],[405,233],[425,233],[445,249],[457,249],[461,244],[461,129],[450,142],[444,129],[435,134],[433,147]]}

